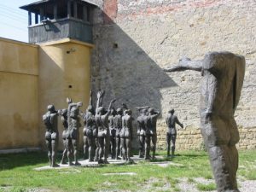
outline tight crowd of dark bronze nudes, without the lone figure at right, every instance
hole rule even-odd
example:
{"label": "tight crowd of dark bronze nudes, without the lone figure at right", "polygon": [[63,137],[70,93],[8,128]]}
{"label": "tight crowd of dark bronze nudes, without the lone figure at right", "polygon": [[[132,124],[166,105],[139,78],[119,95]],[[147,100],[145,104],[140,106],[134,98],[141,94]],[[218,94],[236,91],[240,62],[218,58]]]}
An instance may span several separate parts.
{"label": "tight crowd of dark bronze nudes, without the lone figure at right", "polygon": [[[49,150],[49,166],[55,164],[55,153],[58,144],[58,125],[57,117],[61,115],[63,125],[62,141],[64,150],[62,153],[61,164],[79,165],[77,159],[80,117],[84,121],[84,159],[88,161],[97,161],[98,163],[108,164],[108,154],[115,160],[131,160],[131,141],[133,138],[132,130],[134,120],[131,109],[123,103],[121,108],[113,108],[112,100],[109,103],[108,110],[102,107],[104,91],[97,92],[96,109],[92,105],[92,93],[90,92],[90,104],[84,113],[79,113],[82,102],[72,102],[67,98],[68,107],[55,111],[53,105],[49,105],[48,112],[43,115],[46,126],[46,144]],[[142,112],[137,119],[138,130],[137,137],[140,143],[140,158],[145,160],[155,159],[156,149],[156,121],[160,112],[153,108],[137,108]],[[152,157],[150,156],[150,143],[152,146]],[[120,156],[120,157],[119,157]]]}

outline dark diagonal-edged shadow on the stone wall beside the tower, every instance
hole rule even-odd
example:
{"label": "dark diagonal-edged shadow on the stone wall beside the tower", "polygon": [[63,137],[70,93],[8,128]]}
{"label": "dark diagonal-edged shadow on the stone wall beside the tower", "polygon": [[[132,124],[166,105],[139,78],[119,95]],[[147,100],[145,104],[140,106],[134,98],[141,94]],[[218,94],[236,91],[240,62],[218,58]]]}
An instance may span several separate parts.
{"label": "dark diagonal-edged shadow on the stone wall beside the tower", "polygon": [[[94,26],[91,84],[94,94],[106,90],[104,105],[116,98],[115,107],[127,104],[137,118],[137,106],[161,111],[160,90],[177,84],[107,15],[108,23]],[[96,98],[96,96],[94,96]]]}

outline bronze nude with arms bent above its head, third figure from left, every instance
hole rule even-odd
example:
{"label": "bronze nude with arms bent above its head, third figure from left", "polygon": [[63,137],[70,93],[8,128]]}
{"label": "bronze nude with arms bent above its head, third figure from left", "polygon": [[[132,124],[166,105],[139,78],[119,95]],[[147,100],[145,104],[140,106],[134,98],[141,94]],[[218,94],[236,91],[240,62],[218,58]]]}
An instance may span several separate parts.
{"label": "bronze nude with arms bent above its head, third figure from left", "polygon": [[79,143],[79,107],[83,105],[82,102],[72,102],[71,99],[67,98],[68,108],[67,108],[67,124],[68,124],[68,149],[67,158],[68,165],[72,166],[71,156],[73,154],[75,165],[79,165],[77,159],[78,154],[78,143]]}

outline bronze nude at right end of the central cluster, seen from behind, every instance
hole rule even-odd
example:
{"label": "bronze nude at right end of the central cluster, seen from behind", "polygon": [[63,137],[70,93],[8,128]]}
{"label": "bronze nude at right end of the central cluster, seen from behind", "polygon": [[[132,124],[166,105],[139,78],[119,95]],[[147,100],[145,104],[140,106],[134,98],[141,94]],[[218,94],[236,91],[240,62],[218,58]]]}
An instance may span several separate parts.
{"label": "bronze nude at right end of the central cluster, seen from behind", "polygon": [[132,116],[131,110],[126,109],[122,117],[122,129],[119,132],[121,138],[121,148],[123,160],[132,162],[131,160],[131,140],[132,140]]}

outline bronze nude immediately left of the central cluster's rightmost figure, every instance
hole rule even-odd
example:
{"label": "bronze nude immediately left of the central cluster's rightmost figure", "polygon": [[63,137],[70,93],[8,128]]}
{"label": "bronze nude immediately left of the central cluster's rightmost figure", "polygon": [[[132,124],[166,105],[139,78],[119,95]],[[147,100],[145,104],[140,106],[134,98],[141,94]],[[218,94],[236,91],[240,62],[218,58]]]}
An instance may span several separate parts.
{"label": "bronze nude immediately left of the central cluster's rightmost figure", "polygon": [[114,116],[113,119],[113,126],[115,129],[115,160],[119,160],[119,154],[120,154],[120,131],[122,129],[122,116],[123,116],[123,109],[122,108],[117,108],[116,109],[116,115]]}

